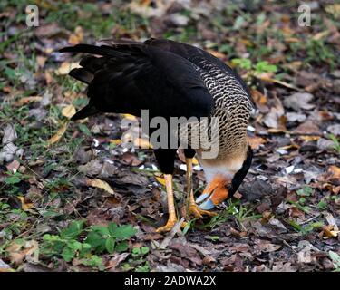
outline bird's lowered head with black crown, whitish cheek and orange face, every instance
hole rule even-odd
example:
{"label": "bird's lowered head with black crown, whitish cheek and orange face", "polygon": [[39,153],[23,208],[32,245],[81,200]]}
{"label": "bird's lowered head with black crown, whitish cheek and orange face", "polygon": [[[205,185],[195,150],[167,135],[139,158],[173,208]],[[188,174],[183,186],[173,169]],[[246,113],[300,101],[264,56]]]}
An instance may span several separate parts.
{"label": "bird's lowered head with black crown, whitish cheek and orange face", "polygon": [[246,177],[252,158],[253,150],[247,146],[243,154],[238,154],[231,160],[209,163],[203,161],[208,185],[196,199],[199,208],[209,210],[232,197]]}

